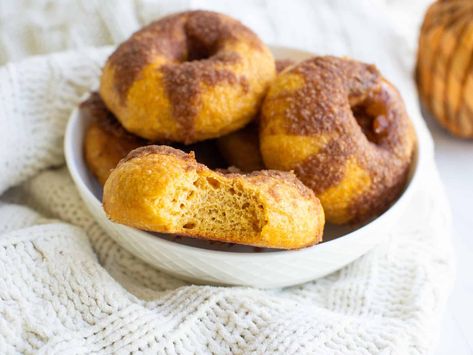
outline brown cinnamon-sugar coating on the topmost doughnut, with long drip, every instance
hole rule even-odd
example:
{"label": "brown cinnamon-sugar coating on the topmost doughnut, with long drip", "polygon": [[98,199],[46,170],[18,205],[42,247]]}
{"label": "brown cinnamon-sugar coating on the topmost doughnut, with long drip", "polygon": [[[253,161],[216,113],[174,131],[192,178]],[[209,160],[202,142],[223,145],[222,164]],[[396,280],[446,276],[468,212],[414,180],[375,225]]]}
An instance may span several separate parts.
{"label": "brown cinnamon-sugar coating on the topmost doughnut, with long drip", "polygon": [[[249,92],[244,74],[229,70],[229,64],[242,61],[228,44],[244,41],[253,50],[264,50],[263,43],[237,20],[210,11],[188,11],[164,17],[136,32],[110,56],[114,82],[122,105],[141,70],[157,56],[165,64],[156,70],[163,83],[175,120],[182,127],[183,142],[195,139],[194,119],[204,87],[227,83]],[[202,85],[204,84],[204,85]]]}

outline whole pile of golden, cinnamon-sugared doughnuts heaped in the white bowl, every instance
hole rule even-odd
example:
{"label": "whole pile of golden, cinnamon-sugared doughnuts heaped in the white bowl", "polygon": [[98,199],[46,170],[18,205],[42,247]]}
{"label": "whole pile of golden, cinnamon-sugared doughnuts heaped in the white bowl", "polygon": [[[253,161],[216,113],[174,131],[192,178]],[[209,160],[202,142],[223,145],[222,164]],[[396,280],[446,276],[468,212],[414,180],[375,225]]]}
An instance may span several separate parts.
{"label": "whole pile of golden, cinnamon-sugared doughnuts heaped in the white bowl", "polygon": [[174,14],[108,58],[84,155],[117,223],[267,248],[366,223],[401,194],[415,134],[373,65],[275,61],[249,28]]}

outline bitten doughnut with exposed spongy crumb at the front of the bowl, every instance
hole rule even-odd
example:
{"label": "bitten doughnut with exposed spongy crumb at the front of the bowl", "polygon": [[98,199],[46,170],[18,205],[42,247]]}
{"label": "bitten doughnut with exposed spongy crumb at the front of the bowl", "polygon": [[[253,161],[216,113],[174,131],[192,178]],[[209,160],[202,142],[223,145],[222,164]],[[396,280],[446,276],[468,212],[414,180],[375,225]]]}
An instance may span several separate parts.
{"label": "bitten doughnut with exposed spongy crumb at the front of the bowl", "polygon": [[168,146],[123,159],[103,207],[112,221],[143,230],[267,248],[313,245],[324,226],[319,200],[294,174],[216,172]]}

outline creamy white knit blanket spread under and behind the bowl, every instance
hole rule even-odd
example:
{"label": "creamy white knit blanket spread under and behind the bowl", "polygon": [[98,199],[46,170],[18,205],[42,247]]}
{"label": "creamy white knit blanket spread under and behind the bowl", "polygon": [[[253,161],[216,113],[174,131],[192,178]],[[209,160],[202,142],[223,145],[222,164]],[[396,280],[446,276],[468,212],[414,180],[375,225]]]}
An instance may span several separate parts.
{"label": "creamy white knit blanket spread under and behind the bowl", "polygon": [[270,43],[374,62],[420,120],[415,34],[378,5],[1,2],[0,61],[76,49],[0,69],[0,353],[429,353],[453,277],[432,156],[388,243],[323,279],[269,291],[190,285],[147,266],[100,229],[64,167],[68,116],[110,52],[77,48],[122,41],[187,7],[227,12]]}

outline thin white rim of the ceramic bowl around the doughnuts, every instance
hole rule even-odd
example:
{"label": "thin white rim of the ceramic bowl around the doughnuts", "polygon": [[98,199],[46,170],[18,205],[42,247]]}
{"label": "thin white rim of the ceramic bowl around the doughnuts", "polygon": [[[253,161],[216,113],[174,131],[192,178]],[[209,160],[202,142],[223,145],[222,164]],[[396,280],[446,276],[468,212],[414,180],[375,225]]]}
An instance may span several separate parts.
{"label": "thin white rim of the ceramic bowl around the doughnuts", "polygon": [[[304,49],[298,49],[294,47],[279,46],[279,45],[269,45],[268,47],[271,49],[272,52],[282,50],[282,51],[292,51],[295,53],[297,52],[301,55],[313,55],[313,56],[316,55]],[[89,93],[90,92],[85,93],[81,97],[81,100],[79,100],[79,102],[82,102],[87,97],[87,95],[89,95]],[[81,196],[81,198],[83,198],[82,196],[83,194],[85,194],[88,200],[94,204],[94,207],[96,207],[97,209],[103,212],[104,217],[108,220],[109,223],[117,224],[118,226],[120,226],[120,228],[130,229],[134,233],[139,235],[140,237],[153,238],[154,242],[168,245],[175,249],[180,249],[181,252],[199,253],[202,256],[207,256],[207,257],[224,256],[224,257],[229,257],[229,258],[242,258],[242,257],[274,258],[274,257],[289,257],[289,256],[293,257],[295,255],[303,256],[303,255],[312,253],[315,248],[318,251],[320,251],[321,249],[332,247],[334,244],[341,243],[343,242],[343,240],[356,239],[365,233],[369,233],[370,229],[376,229],[376,227],[379,224],[382,224],[385,220],[389,219],[390,217],[389,215],[395,213],[395,211],[399,209],[400,206],[404,204],[413,195],[413,191],[415,190],[415,187],[419,184],[419,180],[420,180],[419,176],[421,175],[420,174],[421,166],[424,165],[425,149],[427,149],[427,145],[428,145],[427,142],[424,141],[425,137],[419,134],[423,129],[423,127],[420,126],[420,122],[417,122],[418,120],[411,119],[411,122],[413,123],[413,127],[414,127],[414,133],[416,136],[416,143],[414,147],[414,157],[412,161],[413,166],[411,167],[412,170],[410,172],[409,181],[407,185],[405,186],[404,191],[396,199],[396,201],[392,203],[391,206],[386,211],[384,211],[382,214],[380,214],[379,216],[377,216],[376,218],[374,218],[372,221],[368,222],[367,224],[343,236],[337,237],[336,239],[329,240],[323,243],[315,244],[315,245],[301,248],[301,249],[289,249],[289,250],[281,249],[281,250],[275,250],[271,253],[232,252],[232,251],[225,251],[225,250],[205,249],[198,246],[175,243],[172,240],[167,240],[167,239],[154,236],[147,231],[110,221],[106,217],[105,212],[103,211],[101,201],[92,193],[92,191],[89,189],[86,183],[82,180],[82,178],[80,177],[78,167],[75,164],[75,160],[74,160],[75,147],[72,144],[72,141],[73,141],[72,137],[74,136],[74,130],[76,128],[76,124],[79,121],[79,119],[80,119],[80,112],[79,112],[79,107],[77,106],[72,110],[69,116],[69,119],[67,121],[63,147],[64,147],[66,165],[68,167],[68,170],[71,174],[71,177],[76,187],[80,190],[79,195]],[[80,147],[80,149],[82,149],[82,146]],[[91,214],[93,214],[92,211],[90,212]],[[94,218],[96,218],[95,215],[94,215]]]}

